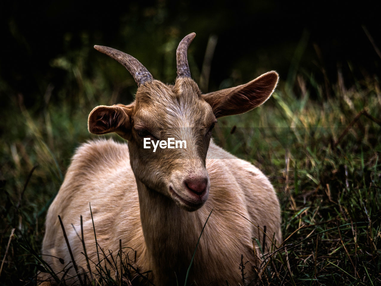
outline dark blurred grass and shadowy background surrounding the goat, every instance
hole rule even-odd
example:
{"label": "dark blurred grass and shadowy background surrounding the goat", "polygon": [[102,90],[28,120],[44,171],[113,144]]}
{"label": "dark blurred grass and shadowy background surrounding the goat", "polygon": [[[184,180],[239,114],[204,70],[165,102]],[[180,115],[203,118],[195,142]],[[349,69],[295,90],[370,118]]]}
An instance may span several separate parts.
{"label": "dark blurred grass and shadowy background surrounding the goat", "polygon": [[264,106],[221,118],[213,134],[279,194],[287,248],[263,265],[260,283],[380,284],[376,9],[324,4],[1,3],[0,283],[35,284],[46,210],[75,148],[94,138],[88,114],[133,100],[133,78],[92,46],[126,51],[171,83],[178,42],[196,32],[197,82],[208,40],[217,40],[209,90],[280,72]]}

